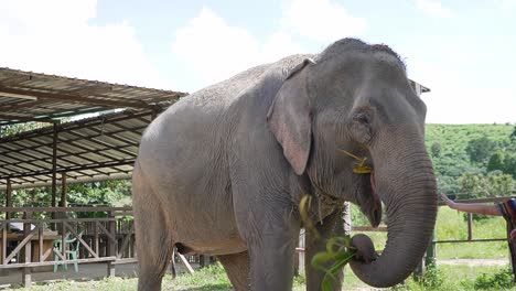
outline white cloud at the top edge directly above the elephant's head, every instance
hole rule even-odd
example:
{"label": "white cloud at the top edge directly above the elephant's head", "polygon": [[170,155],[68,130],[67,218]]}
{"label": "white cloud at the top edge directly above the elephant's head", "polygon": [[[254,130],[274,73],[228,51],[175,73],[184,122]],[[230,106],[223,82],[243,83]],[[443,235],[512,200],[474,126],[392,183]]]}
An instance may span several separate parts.
{"label": "white cloud at the top edge directly above the elephant's head", "polygon": [[330,0],[287,0],[282,4],[282,29],[309,40],[330,43],[346,36],[358,36],[366,21],[351,15]]}

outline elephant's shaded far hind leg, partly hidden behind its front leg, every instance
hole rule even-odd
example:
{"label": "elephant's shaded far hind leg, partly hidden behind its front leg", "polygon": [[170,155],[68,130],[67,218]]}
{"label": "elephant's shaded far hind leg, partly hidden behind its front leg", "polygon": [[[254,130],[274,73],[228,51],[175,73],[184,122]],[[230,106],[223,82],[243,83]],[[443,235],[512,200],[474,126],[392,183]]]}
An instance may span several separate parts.
{"label": "elephant's shaded far hind leg, partly hidden behind its front leg", "polygon": [[247,251],[218,256],[218,260],[224,266],[235,291],[247,291],[250,289],[249,254]]}

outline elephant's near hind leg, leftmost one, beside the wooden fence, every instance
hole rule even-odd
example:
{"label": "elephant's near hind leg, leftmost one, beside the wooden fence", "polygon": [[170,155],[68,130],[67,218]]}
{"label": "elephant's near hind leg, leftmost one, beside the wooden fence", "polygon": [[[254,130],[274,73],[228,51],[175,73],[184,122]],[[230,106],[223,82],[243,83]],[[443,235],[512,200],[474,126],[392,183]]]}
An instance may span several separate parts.
{"label": "elephant's near hind leg, leftmost one, beside the wooden fence", "polygon": [[[137,174],[137,173],[135,173]],[[135,176],[133,174],[133,176]],[[147,183],[133,179],[135,230],[138,250],[138,290],[161,290],[172,258],[173,239],[166,216]]]}

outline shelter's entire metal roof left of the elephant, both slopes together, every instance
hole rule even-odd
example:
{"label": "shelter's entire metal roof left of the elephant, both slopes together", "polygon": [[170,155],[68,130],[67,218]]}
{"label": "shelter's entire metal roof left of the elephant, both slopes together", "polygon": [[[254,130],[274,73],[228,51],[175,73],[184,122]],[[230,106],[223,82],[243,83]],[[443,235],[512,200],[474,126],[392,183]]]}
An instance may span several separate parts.
{"label": "shelter's entire metal roof left of the elephant, both slopes together", "polygon": [[[130,177],[144,128],[182,96],[186,94],[0,68],[0,126],[49,122],[0,138],[0,190],[52,186],[56,206],[57,184]],[[62,122],[85,114],[98,116]]]}

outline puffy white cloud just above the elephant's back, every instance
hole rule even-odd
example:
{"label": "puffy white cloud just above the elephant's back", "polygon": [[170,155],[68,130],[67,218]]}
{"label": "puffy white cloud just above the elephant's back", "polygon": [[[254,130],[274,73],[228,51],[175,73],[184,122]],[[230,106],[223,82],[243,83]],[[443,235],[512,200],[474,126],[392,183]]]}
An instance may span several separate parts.
{"label": "puffy white cloud just above the elephant's back", "polygon": [[[247,30],[232,26],[209,8],[179,29],[172,53],[203,86],[226,79],[244,69],[273,62],[302,50],[292,39],[277,32],[260,43]],[[200,79],[201,78],[201,79]]]}

